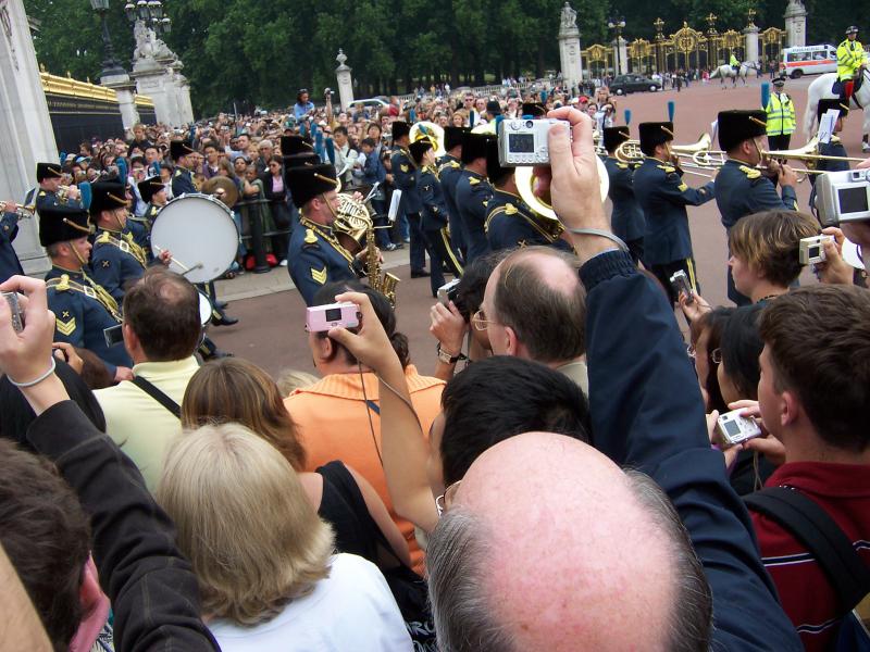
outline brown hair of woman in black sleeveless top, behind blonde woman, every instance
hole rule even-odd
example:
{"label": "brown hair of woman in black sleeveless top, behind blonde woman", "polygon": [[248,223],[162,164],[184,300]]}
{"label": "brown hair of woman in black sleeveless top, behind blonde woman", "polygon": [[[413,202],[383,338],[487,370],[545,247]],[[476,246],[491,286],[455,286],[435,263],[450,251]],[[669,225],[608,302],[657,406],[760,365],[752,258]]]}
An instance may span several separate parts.
{"label": "brown hair of woman in black sleeveless top, behind blonde woman", "polygon": [[182,400],[182,426],[238,423],[274,446],[297,471],[306,451],[272,377],[252,362],[221,358],[203,364]]}

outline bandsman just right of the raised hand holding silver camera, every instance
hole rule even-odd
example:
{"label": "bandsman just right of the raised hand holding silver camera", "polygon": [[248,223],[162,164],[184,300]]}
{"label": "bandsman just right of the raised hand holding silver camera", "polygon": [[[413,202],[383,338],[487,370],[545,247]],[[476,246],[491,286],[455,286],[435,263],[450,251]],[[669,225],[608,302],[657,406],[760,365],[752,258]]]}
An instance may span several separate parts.
{"label": "bandsman just right of the raised hand holding silver camera", "polygon": [[644,211],[634,196],[634,167],[617,160],[617,148],[629,140],[629,127],[605,127],[602,141],[607,150],[605,168],[610,179],[608,196],[613,203],[610,227],[613,235],[629,247],[635,263],[644,258]]}

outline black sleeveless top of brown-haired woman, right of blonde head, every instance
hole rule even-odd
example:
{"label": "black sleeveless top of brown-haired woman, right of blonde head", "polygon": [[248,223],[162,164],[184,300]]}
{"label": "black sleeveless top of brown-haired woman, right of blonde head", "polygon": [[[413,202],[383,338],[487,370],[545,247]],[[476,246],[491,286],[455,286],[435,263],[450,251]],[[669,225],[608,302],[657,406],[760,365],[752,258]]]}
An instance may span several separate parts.
{"label": "black sleeveless top of brown-haired woman, right of blonde head", "polygon": [[333,526],[336,549],[377,565],[378,540],[372,530],[377,526],[353,476],[337,460],[318,467],[316,473],[323,476],[318,515]]}

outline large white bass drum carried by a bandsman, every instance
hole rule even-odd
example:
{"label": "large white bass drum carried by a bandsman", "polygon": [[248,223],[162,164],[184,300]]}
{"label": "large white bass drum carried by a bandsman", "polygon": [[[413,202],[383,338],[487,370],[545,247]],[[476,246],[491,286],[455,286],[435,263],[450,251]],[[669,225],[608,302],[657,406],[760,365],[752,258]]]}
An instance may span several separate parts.
{"label": "large white bass drum carried by a bandsman", "polygon": [[151,250],[172,253],[170,269],[190,283],[220,277],[236,260],[238,229],[233,213],[210,195],[182,195],[157,214]]}

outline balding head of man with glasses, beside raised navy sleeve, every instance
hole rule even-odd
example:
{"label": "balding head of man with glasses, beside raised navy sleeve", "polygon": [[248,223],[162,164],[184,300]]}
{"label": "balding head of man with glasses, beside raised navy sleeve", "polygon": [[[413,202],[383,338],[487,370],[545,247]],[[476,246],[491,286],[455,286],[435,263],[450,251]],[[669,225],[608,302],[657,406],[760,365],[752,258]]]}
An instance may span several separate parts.
{"label": "balding head of man with glasses, beside raised navy sleeve", "polygon": [[486,284],[483,310],[497,355],[564,364],[585,353],[586,293],[577,259],[550,247],[506,258]]}

